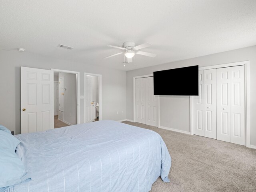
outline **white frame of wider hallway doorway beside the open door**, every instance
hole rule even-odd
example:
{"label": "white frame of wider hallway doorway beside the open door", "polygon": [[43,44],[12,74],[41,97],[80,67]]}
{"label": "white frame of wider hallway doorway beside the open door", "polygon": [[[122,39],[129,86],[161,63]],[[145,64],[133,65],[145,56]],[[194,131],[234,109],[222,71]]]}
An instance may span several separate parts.
{"label": "white frame of wider hallway doorway beside the open door", "polygon": [[61,70],[61,69],[52,69],[55,72],[62,72],[62,73],[72,73],[76,74],[76,124],[80,124],[80,72],[78,71],[69,71],[69,70]]}

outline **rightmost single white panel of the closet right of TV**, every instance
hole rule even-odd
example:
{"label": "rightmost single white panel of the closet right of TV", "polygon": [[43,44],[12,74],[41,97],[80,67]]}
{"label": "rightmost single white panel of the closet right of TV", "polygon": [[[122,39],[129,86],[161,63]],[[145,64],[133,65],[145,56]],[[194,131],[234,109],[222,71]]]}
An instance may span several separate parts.
{"label": "rightmost single white panel of the closet right of TV", "polygon": [[245,145],[244,66],[230,67],[231,142]]}

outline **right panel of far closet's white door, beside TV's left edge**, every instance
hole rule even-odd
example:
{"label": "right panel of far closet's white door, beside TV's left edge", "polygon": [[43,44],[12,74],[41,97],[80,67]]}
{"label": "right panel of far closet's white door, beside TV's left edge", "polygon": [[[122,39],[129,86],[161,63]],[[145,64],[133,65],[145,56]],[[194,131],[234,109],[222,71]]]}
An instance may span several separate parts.
{"label": "right panel of far closet's white door, beside TV's left edge", "polygon": [[153,77],[144,79],[146,80],[146,124],[158,126],[158,96],[153,92]]}

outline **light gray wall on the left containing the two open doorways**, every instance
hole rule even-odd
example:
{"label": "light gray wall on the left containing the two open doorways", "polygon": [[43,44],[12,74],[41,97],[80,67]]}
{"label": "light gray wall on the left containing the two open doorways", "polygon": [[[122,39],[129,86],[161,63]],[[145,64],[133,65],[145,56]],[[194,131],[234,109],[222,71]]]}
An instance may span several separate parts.
{"label": "light gray wall on the left containing the two open doorways", "polygon": [[[80,72],[80,94],[84,95],[84,72],[102,74],[102,119],[126,119],[126,72],[85,63],[68,62],[29,52],[0,50],[0,124],[20,133],[20,66]],[[120,111],[124,111],[124,114]],[[119,111],[119,114],[116,114]],[[81,123],[84,100],[80,100]]]}

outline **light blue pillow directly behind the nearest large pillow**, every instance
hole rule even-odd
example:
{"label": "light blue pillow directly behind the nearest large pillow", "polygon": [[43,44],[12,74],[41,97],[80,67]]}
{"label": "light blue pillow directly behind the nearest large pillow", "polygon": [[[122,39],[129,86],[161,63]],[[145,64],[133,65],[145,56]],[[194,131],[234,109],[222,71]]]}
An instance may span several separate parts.
{"label": "light blue pillow directly behind the nearest large pillow", "polygon": [[9,134],[7,131],[0,130],[0,148],[1,149],[10,149],[15,152],[16,147],[20,143],[16,137],[12,134]]}

